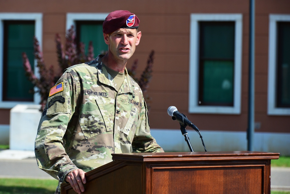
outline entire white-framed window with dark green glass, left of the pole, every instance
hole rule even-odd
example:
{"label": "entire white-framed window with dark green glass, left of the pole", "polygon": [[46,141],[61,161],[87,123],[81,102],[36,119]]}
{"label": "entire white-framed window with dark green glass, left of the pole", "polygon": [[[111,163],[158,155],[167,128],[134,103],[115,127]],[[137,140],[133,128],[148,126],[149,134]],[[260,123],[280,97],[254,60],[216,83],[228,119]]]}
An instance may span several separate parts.
{"label": "entire white-framed window with dark green glass, left of the pole", "polygon": [[192,14],[189,112],[240,114],[241,14]]}

